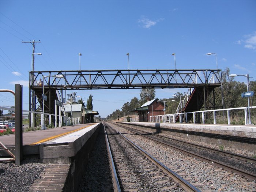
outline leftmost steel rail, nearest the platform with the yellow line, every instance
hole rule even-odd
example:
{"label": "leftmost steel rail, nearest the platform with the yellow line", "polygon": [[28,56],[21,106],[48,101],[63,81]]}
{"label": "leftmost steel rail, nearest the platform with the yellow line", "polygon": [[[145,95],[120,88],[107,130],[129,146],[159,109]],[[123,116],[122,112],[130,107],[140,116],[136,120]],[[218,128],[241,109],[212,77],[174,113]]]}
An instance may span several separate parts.
{"label": "leftmost steel rail, nearest the platform with the yellow line", "polygon": [[109,160],[110,160],[110,168],[112,170],[112,178],[113,178],[113,187],[114,187],[114,191],[115,192],[121,192],[121,187],[118,181],[118,177],[117,177],[117,172],[116,172],[116,167],[114,165],[114,159],[111,153],[111,149],[110,149],[110,145],[109,145],[109,140],[108,140],[108,135],[106,133],[106,129],[104,126],[104,133],[105,133],[105,140],[106,140],[106,144],[107,144],[107,149],[108,149],[108,153],[109,153]]}

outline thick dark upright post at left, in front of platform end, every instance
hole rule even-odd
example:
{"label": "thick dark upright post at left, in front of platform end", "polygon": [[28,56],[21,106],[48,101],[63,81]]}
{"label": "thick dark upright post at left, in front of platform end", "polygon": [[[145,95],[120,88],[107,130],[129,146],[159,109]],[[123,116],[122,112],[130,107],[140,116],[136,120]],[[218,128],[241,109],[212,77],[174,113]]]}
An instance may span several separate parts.
{"label": "thick dark upright post at left, in front of platform end", "polygon": [[23,159],[22,140],[22,86],[15,84],[15,164],[20,165]]}

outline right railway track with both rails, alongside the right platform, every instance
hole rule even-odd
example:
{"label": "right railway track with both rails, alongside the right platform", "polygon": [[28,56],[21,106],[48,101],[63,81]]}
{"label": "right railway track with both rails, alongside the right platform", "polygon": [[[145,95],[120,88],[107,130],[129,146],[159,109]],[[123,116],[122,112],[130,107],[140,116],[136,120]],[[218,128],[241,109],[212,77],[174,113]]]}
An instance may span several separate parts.
{"label": "right railway track with both rails, alongside the right platform", "polygon": [[242,177],[256,180],[256,159],[244,155],[229,153],[226,151],[216,150],[214,148],[203,147],[193,143],[183,142],[181,140],[160,136],[154,133],[129,128],[123,125],[118,126],[125,128],[132,133],[139,134],[150,140],[161,143],[165,146],[172,147],[182,153],[192,155],[206,162],[211,162],[218,167],[222,167],[230,172],[237,173]]}

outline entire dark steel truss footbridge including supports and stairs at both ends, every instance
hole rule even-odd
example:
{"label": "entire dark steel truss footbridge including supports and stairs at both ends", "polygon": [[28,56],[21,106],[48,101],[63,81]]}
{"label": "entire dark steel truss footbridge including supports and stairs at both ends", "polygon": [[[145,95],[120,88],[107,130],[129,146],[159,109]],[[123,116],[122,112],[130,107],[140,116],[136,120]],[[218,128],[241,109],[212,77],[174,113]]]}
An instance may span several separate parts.
{"label": "entire dark steel truss footbridge including supports and stairs at both ends", "polygon": [[[206,103],[208,95],[216,87],[222,86],[221,69],[133,69],[133,70],[79,70],[79,71],[30,71],[30,110],[42,106],[42,85],[39,79],[44,78],[45,110],[52,113],[54,100],[63,102],[64,90],[95,89],[197,89],[196,109]],[[56,78],[62,75],[63,78]],[[219,89],[222,90],[222,89]],[[61,95],[59,94],[59,91]],[[220,92],[219,92],[220,93]],[[214,93],[215,100],[222,99],[221,94]],[[58,96],[59,95],[59,96]]]}

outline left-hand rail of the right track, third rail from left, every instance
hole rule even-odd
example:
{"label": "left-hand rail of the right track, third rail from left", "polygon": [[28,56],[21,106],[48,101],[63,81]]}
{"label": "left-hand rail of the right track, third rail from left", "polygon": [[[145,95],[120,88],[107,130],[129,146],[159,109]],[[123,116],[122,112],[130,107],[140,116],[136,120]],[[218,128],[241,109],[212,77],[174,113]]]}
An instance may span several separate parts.
{"label": "left-hand rail of the right track, third rail from left", "polygon": [[[131,131],[131,130],[129,130],[129,131]],[[145,136],[145,135],[142,135],[142,134],[140,134],[140,133],[137,133],[137,132],[134,132],[134,131],[131,131],[131,132],[136,133],[136,134],[138,134],[138,135],[140,135],[140,136],[143,136],[143,137],[145,137],[145,138],[148,138],[148,139],[150,139],[150,140],[153,140],[153,141],[155,141],[155,142],[157,142],[157,143],[163,144],[163,145],[165,145],[165,146],[167,146],[167,147],[174,148],[174,149],[176,149],[176,150],[178,150],[178,151],[181,151],[182,153],[191,155],[192,157],[196,157],[196,158],[201,159],[201,160],[203,160],[203,161],[206,161],[206,162],[212,163],[212,164],[214,164],[214,165],[217,165],[218,167],[224,168],[224,169],[229,170],[229,171],[233,171],[233,172],[237,173],[238,175],[244,176],[244,177],[246,177],[246,178],[248,178],[248,179],[250,179],[250,180],[256,180],[256,174],[254,174],[254,173],[250,173],[250,172],[247,172],[247,171],[245,171],[245,170],[238,169],[238,168],[236,168],[236,167],[227,165],[227,164],[225,164],[225,163],[216,161],[216,160],[214,160],[214,159],[210,159],[210,158],[207,158],[207,157],[203,157],[202,155],[194,154],[194,153],[192,153],[192,152],[190,152],[190,151],[184,150],[184,149],[179,148],[179,147],[172,146],[172,145],[170,145],[170,144],[166,144],[166,143],[160,142],[160,141],[158,141],[158,140],[152,139],[152,138],[150,138],[150,137],[148,137],[148,136]]]}

